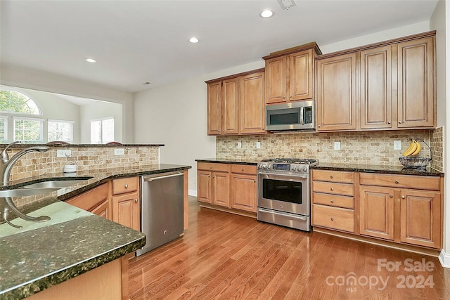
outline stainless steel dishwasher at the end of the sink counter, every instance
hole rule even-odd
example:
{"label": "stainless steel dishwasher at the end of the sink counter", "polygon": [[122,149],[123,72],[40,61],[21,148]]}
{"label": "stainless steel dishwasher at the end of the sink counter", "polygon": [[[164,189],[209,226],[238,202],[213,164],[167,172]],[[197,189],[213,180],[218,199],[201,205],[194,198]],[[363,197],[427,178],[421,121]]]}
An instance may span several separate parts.
{"label": "stainless steel dishwasher at the end of the sink counter", "polygon": [[146,244],[136,256],[175,240],[183,233],[184,174],[168,172],[141,178],[141,231]]}

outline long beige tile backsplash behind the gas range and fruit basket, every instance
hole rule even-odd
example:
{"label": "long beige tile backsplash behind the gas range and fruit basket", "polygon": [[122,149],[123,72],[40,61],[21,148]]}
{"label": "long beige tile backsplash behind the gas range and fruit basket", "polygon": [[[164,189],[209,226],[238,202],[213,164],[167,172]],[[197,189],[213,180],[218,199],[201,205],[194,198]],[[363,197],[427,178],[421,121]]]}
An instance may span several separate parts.
{"label": "long beige tile backsplash behind the gas range and fruit basket", "polygon": [[[359,131],[333,133],[281,133],[260,136],[217,136],[216,157],[264,159],[301,157],[319,162],[348,164],[385,164],[401,166],[399,157],[412,138],[423,139],[433,150],[431,167],[442,171],[442,128],[433,130]],[[401,141],[401,150],[394,150],[394,141]],[[238,142],[241,148],[238,148]],[[257,142],[261,148],[257,149]],[[340,142],[340,150],[335,150]],[[420,157],[430,157],[422,143]]]}

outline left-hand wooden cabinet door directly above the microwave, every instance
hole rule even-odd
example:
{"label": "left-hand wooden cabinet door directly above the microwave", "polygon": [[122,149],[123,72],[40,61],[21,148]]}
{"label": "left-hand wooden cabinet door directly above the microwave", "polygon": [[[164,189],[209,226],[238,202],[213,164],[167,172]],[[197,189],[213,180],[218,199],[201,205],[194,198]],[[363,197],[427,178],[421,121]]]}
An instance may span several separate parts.
{"label": "left-hand wooden cabinet door directly above the microwave", "polygon": [[286,56],[266,60],[266,104],[287,101]]}

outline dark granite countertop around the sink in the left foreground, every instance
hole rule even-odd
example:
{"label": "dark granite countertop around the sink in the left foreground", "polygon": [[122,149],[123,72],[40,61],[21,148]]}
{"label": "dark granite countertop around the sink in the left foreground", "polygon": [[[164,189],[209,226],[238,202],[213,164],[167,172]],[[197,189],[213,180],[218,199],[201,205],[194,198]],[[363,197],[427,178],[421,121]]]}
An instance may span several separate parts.
{"label": "dark granite countertop around the sink in the left foreground", "polygon": [[[191,166],[153,164],[98,169],[77,174],[47,174],[15,181],[1,190],[53,179],[86,178],[70,188],[34,197],[20,210],[30,216],[49,216],[50,221],[10,220],[0,225],[0,299],[23,299],[53,285],[102,266],[140,249],[145,235],[60,200],[83,193],[113,178],[158,174],[190,169]],[[0,209],[6,206],[0,198]]]}

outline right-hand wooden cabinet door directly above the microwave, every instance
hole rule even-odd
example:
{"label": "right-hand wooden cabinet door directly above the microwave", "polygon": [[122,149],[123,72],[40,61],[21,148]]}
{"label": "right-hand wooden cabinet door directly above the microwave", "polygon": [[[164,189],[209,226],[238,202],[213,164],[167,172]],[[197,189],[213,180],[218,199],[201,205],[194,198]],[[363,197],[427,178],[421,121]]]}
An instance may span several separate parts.
{"label": "right-hand wooden cabinet door directly above the microwave", "polygon": [[289,100],[314,99],[314,49],[289,56]]}

